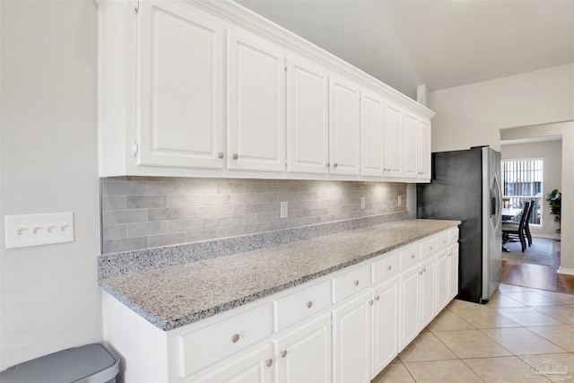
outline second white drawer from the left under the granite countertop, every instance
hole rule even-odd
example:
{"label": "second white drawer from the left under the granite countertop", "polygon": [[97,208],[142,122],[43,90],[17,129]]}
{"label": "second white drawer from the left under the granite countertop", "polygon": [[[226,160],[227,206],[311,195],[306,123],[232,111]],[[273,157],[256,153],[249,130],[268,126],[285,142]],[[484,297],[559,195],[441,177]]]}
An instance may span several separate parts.
{"label": "second white drawer from the left under the granite countertop", "polygon": [[275,300],[275,331],[331,306],[331,281],[323,281],[300,292]]}

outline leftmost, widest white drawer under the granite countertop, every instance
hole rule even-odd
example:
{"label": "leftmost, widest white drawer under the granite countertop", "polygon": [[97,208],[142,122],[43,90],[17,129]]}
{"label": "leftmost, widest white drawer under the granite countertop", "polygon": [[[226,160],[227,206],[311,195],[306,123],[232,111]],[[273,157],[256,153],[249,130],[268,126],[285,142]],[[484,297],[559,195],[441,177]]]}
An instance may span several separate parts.
{"label": "leftmost, widest white drawer under the granite countertop", "polygon": [[271,335],[271,305],[179,335],[181,378]]}

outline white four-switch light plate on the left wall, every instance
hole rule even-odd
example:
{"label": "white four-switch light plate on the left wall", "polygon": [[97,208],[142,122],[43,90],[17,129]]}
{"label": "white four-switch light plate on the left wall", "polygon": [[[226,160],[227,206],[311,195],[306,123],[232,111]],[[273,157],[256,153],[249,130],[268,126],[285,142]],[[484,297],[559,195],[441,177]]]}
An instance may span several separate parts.
{"label": "white four-switch light plate on the left wall", "polygon": [[27,248],[74,241],[74,213],[4,217],[6,248]]}

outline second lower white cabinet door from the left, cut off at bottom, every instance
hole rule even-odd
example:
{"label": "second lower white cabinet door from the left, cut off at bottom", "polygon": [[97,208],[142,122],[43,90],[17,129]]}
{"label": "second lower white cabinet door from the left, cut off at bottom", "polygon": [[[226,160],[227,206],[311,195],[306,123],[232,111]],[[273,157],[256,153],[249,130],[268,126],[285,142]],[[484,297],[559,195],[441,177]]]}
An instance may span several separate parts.
{"label": "second lower white cabinet door from the left, cut off at bottom", "polygon": [[331,312],[276,341],[278,381],[331,382]]}

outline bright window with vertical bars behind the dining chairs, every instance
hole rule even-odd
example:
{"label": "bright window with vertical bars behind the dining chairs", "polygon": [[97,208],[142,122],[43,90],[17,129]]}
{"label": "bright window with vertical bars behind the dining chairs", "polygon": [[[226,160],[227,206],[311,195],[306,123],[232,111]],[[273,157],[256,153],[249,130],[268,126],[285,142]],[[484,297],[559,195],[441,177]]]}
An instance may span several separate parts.
{"label": "bright window with vertical bars behind the dining chairs", "polygon": [[542,159],[502,161],[504,207],[521,209],[525,201],[534,201],[534,210],[530,216],[530,224],[533,225],[542,224],[543,162]]}

